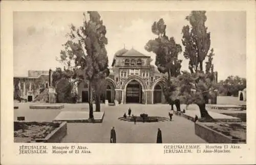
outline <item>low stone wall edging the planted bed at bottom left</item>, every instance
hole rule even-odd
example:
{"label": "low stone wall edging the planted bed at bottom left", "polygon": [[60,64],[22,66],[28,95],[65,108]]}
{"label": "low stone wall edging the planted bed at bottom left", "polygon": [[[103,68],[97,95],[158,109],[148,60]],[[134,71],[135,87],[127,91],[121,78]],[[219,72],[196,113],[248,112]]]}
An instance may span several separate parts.
{"label": "low stone wall edging the planted bed at bottom left", "polygon": [[35,139],[37,143],[60,143],[61,139],[67,135],[67,122],[62,122],[58,128],[42,139]]}

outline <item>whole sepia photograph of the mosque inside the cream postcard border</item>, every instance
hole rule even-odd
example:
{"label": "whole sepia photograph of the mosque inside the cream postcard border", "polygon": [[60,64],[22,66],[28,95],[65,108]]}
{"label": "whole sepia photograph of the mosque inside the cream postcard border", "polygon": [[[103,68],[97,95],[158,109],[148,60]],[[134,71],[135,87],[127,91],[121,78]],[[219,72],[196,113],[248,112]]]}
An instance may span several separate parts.
{"label": "whole sepia photograph of the mosque inside the cream postcard border", "polygon": [[246,11],[14,11],[14,143],[246,144]]}

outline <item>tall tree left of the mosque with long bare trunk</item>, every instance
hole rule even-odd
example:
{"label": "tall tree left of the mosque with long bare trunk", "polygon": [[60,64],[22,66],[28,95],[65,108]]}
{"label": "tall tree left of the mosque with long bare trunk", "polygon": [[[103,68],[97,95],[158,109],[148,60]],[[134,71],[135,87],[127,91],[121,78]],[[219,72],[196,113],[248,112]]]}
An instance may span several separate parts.
{"label": "tall tree left of the mosque with long bare trunk", "polygon": [[109,76],[108,56],[105,45],[106,28],[97,11],[88,11],[89,20],[83,13],[83,24],[76,28],[71,25],[71,32],[67,34],[68,41],[63,44],[60,60],[74,70],[74,77],[78,81],[88,82],[89,90],[89,118],[93,116],[93,86],[98,81]]}

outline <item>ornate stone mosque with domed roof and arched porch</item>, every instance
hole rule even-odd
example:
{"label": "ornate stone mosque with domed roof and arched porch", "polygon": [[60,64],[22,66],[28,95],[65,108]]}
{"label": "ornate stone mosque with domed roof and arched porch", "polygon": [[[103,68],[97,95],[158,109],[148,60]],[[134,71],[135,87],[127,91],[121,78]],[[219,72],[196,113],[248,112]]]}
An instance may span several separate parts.
{"label": "ornate stone mosque with domed roof and arched porch", "polygon": [[[140,103],[156,104],[166,103],[163,95],[163,74],[159,73],[154,65],[151,65],[151,57],[136,51],[135,49],[121,49],[116,52],[110,70],[110,76],[106,78],[107,87],[102,102],[118,101],[119,104]],[[80,102],[88,102],[88,85],[78,85]]]}

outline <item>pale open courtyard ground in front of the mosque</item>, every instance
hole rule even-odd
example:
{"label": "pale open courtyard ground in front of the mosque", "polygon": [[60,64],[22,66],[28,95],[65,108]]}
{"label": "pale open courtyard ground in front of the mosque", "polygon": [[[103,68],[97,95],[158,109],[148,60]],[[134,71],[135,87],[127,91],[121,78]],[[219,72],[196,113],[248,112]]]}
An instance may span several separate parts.
{"label": "pale open courtyard ground in front of the mosque", "polygon": [[[225,101],[226,99],[226,101]],[[237,98],[219,97],[219,102],[228,105],[241,105],[246,102],[236,101]],[[14,120],[17,116],[25,116],[25,121],[51,122],[61,111],[88,111],[89,105],[84,104],[63,104],[62,109],[29,109],[29,106],[38,103],[14,103],[18,109],[14,109]],[[121,121],[124,112],[127,114],[129,107],[132,114],[139,116],[147,113],[150,116],[167,117],[170,111],[168,104],[123,104],[119,106],[101,105],[104,111],[102,123],[68,123],[67,135],[62,143],[110,143],[110,130],[115,127],[117,143],[156,143],[157,129],[162,130],[163,143],[206,143],[205,140],[195,134],[194,123],[182,116],[173,116],[172,121],[141,123]],[[181,105],[185,107],[185,105]],[[190,110],[195,110],[196,105],[189,105]],[[207,109],[209,111],[216,111]],[[226,110],[218,110],[222,113]],[[229,110],[230,111],[230,110]],[[233,111],[237,112],[236,110]]]}

